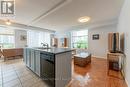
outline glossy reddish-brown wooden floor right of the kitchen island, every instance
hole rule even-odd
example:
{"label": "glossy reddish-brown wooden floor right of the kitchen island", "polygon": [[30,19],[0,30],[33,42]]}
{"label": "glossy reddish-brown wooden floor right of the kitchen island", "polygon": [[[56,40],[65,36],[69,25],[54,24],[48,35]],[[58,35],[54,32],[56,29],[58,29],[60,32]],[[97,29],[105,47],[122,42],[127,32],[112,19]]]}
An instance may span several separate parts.
{"label": "glossy reddish-brown wooden floor right of the kitchen island", "polygon": [[110,75],[118,78],[107,75],[105,59],[92,58],[91,64],[84,68],[73,64],[69,87],[127,87],[119,72],[110,71]]}

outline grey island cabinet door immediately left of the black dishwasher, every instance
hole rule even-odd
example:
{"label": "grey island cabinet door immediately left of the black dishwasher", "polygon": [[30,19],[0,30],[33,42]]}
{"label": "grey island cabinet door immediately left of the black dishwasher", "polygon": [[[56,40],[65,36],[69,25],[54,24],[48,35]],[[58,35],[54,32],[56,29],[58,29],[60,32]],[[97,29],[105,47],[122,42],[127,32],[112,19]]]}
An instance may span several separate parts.
{"label": "grey island cabinet door immediately left of the black dishwasher", "polygon": [[40,51],[35,51],[35,73],[40,76]]}

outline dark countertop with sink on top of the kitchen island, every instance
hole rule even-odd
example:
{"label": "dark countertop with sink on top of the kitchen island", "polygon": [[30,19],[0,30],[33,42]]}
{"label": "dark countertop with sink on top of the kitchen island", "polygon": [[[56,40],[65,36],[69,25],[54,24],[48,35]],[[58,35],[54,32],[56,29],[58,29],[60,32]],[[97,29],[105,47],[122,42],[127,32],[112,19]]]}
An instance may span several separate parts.
{"label": "dark countertop with sink on top of the kitchen island", "polygon": [[37,47],[31,48],[35,50],[39,50],[41,52],[48,52],[48,53],[53,53],[53,54],[60,54],[60,53],[65,53],[65,52],[70,52],[73,51],[71,48],[49,48],[49,49],[39,49]]}

